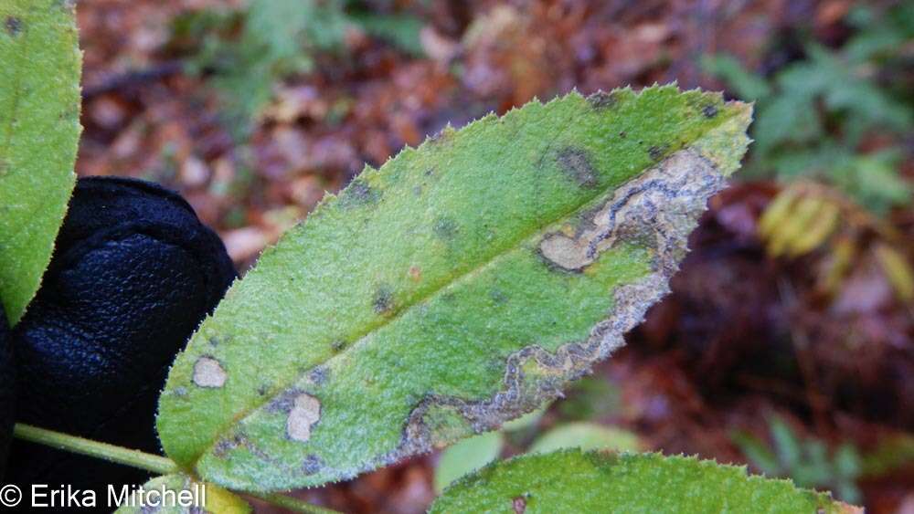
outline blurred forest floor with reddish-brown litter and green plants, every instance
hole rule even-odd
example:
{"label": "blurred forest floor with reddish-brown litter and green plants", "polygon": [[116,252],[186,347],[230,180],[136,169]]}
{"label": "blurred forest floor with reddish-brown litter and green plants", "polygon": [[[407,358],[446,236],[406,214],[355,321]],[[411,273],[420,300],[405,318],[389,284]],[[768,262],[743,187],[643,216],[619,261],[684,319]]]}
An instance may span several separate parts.
{"label": "blurred forest floor with reddish-brown litter and green plants", "polygon": [[914,2],[82,0],[79,23],[78,172],[180,191],[241,269],[448,122],[673,80],[756,102],[628,347],[499,432],[303,498],[423,512],[498,456],[583,445],[914,512]]}

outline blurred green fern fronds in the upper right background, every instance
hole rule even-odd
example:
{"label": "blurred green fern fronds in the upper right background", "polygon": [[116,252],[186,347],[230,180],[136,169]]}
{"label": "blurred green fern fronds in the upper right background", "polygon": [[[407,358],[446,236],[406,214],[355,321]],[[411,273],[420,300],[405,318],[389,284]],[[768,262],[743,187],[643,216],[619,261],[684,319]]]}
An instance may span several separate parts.
{"label": "blurred green fern fronds in the upper right background", "polygon": [[[912,199],[910,180],[898,169],[910,158],[904,138],[914,130],[914,99],[904,71],[904,43],[914,37],[914,3],[861,5],[846,21],[856,33],[844,47],[804,41],[806,57],[770,79],[730,56],[705,57],[701,64],[738,96],[758,100],[755,144],[744,176],[815,177],[884,215]],[[861,142],[876,132],[894,138],[887,153],[904,157],[862,152]]]}

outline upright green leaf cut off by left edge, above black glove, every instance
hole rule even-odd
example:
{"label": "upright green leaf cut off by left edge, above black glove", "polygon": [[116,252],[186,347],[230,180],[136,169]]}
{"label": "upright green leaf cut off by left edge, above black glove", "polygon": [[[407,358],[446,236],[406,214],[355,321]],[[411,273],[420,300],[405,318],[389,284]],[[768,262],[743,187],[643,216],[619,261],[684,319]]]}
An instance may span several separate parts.
{"label": "upright green leaf cut off by left edge, above black glove", "polygon": [[0,3],[0,300],[11,324],[41,283],[76,181],[81,54],[73,4]]}

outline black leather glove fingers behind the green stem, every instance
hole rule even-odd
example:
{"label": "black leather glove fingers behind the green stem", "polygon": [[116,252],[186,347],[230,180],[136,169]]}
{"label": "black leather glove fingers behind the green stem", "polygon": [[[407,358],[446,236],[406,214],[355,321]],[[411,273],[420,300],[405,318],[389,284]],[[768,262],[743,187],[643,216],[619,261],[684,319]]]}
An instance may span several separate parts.
{"label": "black leather glove fingers behind the green stem", "polygon": [[[80,179],[42,286],[13,333],[16,421],[159,453],[154,414],[168,368],[235,276],[218,236],[178,194]],[[23,491],[93,488],[102,506],[108,484],[148,477],[18,440],[6,471]]]}

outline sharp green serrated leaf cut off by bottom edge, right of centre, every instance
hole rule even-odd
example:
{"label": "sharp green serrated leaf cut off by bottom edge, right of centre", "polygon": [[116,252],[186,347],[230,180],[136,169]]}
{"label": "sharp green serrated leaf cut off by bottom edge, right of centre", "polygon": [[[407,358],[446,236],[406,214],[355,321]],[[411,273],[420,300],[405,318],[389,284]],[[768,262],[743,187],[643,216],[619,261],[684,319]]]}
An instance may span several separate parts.
{"label": "sharp green serrated leaf cut off by bottom edge, right of centre", "polygon": [[744,467],[659,454],[565,450],[458,480],[430,512],[842,512],[853,508]]}

